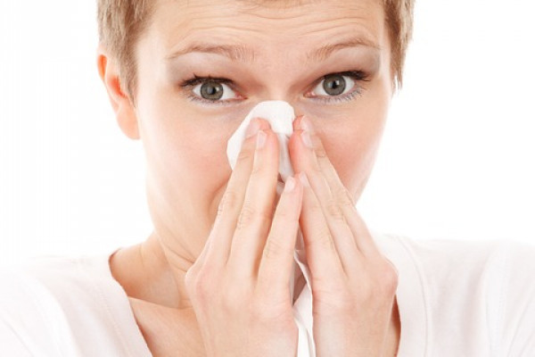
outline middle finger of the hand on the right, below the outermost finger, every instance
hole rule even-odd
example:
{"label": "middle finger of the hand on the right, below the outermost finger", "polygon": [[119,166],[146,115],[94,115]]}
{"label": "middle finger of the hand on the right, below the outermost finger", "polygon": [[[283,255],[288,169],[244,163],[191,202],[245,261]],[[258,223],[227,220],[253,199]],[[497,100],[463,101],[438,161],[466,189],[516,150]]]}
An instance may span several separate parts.
{"label": "middle finger of the hand on the right, below the outermost finger", "polygon": [[[307,142],[310,141],[310,138],[306,137],[308,132],[297,130],[294,133],[297,135],[292,145],[292,164],[295,170],[307,173],[310,186],[321,208],[320,213],[323,213],[325,217],[322,221],[325,221],[326,227],[321,228],[321,230],[326,229],[331,233],[336,252],[342,262],[343,270],[346,273],[356,271],[360,267],[363,256],[355,244],[353,232],[346,222],[338,202],[335,201],[331,193],[323,171],[317,164],[314,150],[307,146]],[[306,203],[304,206],[306,207]]]}

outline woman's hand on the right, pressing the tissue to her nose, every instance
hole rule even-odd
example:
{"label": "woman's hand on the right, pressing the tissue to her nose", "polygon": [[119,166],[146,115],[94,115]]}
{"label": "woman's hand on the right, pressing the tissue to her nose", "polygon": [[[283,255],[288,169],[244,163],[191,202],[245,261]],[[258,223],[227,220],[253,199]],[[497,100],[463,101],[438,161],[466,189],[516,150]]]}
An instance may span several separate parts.
{"label": "woman's hand on the right, pressing the tissue to her nose", "polygon": [[397,271],[374,245],[310,120],[304,133],[301,123],[296,119],[290,151],[294,170],[309,180],[300,228],[312,280],[317,357],[383,356],[392,348],[386,337],[397,309]]}

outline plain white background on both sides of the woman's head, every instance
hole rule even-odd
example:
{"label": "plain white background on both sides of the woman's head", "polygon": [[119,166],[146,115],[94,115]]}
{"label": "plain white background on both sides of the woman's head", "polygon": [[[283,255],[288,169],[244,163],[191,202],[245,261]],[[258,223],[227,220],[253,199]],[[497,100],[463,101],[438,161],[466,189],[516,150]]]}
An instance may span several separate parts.
{"label": "plain white background on both sides of the woman's head", "polygon": [[[95,64],[95,1],[0,3],[0,263],[151,232],[141,143]],[[535,5],[421,0],[406,83],[358,203],[371,228],[535,244]]]}

